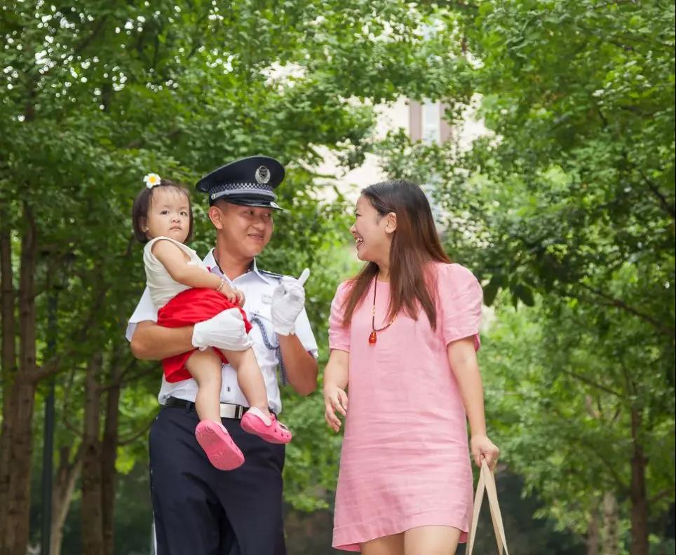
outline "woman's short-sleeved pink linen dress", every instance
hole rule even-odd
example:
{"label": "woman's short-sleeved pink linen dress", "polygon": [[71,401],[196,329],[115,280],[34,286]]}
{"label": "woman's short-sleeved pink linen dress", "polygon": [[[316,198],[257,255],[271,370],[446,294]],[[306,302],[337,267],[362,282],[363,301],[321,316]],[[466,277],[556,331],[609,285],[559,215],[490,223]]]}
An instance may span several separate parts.
{"label": "woman's short-sleeved pink linen dress", "polygon": [[[350,353],[349,408],[340,458],[333,545],[359,544],[417,526],[459,528],[466,541],[472,470],[466,417],[446,347],[474,337],[479,348],[482,289],[459,264],[433,264],[437,328],[421,311],[399,314],[368,342],[373,285],[349,327],[341,327],[349,282],[334,297],[332,349]],[[389,284],[378,282],[375,327],[384,325]]]}

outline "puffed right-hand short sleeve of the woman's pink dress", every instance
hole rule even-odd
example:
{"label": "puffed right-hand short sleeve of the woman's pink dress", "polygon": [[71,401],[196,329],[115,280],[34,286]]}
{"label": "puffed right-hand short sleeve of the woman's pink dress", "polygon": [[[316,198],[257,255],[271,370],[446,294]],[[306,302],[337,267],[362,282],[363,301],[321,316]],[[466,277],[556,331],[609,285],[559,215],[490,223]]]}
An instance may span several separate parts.
{"label": "puffed right-hand short sleeve of the woman's pink dress", "polygon": [[479,350],[483,291],[477,278],[460,264],[440,264],[438,291],[445,344],[473,337],[474,348]]}

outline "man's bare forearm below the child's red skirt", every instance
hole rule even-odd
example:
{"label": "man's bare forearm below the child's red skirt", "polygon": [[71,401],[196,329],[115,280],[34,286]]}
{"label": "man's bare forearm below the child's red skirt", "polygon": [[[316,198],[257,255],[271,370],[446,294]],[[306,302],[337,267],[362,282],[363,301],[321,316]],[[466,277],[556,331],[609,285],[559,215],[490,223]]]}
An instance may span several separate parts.
{"label": "man's bare forearm below the child's red skirt", "polygon": [[131,336],[131,352],[137,359],[161,360],[193,350],[192,326],[166,328],[151,320],[139,322]]}

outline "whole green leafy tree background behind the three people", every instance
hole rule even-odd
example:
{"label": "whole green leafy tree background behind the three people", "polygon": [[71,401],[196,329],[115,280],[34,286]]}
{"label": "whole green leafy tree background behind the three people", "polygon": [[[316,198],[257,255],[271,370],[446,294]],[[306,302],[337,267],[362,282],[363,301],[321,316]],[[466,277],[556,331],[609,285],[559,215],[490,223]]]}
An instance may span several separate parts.
{"label": "whole green leafy tree background behind the three people", "polygon": [[[75,477],[55,498],[62,552],[148,552],[158,379],[122,337],[143,286],[128,215],[145,173],[192,184],[238,156],[285,163],[289,210],[259,264],[311,268],[325,361],[330,299],[356,266],[322,147],[431,185],[449,254],[484,285],[511,548],[672,552],[674,25],[660,1],[4,3],[0,551],[39,542],[53,377],[55,463]],[[471,148],[379,140],[373,107],[399,97],[442,100],[456,128],[481,118],[488,132]],[[325,554],[340,438],[319,393],[284,395],[290,553]],[[112,466],[81,474],[83,460]]]}

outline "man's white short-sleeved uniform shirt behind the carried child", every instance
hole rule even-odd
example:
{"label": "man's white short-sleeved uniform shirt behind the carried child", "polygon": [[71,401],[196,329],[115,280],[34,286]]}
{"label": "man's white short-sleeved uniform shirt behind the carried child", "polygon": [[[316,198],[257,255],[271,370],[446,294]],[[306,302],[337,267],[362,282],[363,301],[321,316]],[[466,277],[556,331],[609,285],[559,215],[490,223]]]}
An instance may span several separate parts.
{"label": "man's white short-sleeved uniform shirt behind the carried child", "polygon": [[[262,322],[267,337],[274,345],[276,345],[277,336],[272,326],[270,308],[272,294],[279,284],[279,280],[271,275],[266,275],[264,272],[260,272],[256,266],[255,260],[251,270],[232,281],[219,270],[213,252],[209,252],[209,254],[205,256],[203,263],[211,269],[212,273],[224,278],[233,287],[243,291],[246,297],[244,311],[248,320],[251,321],[252,319],[257,318],[259,322]],[[152,322],[157,321],[157,309],[150,298],[150,292],[147,287],[143,292],[141,300],[136,306],[136,310],[134,310],[132,317],[129,319],[126,333],[126,337],[129,341],[131,341],[134,334],[136,324],[144,322],[145,320],[151,320]],[[273,411],[279,413],[282,409],[282,402],[277,383],[277,366],[280,362],[277,356],[278,351],[271,350],[265,346],[259,324],[255,322],[251,323],[253,329],[250,331],[249,336],[265,381],[268,403]],[[310,352],[311,355],[316,358],[318,356],[317,342],[312,333],[305,309],[299,314],[295,328],[296,335],[305,350]],[[194,380],[190,379],[168,383],[163,376],[158,401],[160,404],[165,404],[168,397],[177,397],[178,399],[186,399],[187,401],[194,402],[196,393],[197,383]],[[221,402],[248,406],[246,397],[244,397],[244,394],[237,384],[237,373],[229,364],[223,364],[222,366]]]}

